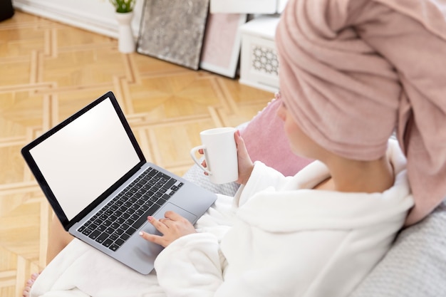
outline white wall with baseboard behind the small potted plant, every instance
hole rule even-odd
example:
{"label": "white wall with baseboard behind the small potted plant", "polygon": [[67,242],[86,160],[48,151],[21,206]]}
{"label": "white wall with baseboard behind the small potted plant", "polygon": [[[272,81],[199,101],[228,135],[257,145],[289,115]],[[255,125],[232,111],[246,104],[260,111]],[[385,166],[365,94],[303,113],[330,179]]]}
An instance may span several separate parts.
{"label": "white wall with baseboard behind the small potted plant", "polygon": [[[115,11],[108,0],[14,0],[14,7],[105,36],[118,37]],[[136,0],[133,36],[138,36],[143,0]]]}

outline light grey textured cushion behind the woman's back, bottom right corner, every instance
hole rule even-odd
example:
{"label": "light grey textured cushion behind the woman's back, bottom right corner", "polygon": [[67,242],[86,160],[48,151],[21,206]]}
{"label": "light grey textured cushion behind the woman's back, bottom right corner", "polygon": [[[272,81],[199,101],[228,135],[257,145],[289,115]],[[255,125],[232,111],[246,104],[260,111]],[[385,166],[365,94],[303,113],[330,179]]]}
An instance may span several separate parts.
{"label": "light grey textured cushion behind the woman's back, bottom right corner", "polygon": [[446,296],[446,200],[400,232],[392,249],[350,297]]}

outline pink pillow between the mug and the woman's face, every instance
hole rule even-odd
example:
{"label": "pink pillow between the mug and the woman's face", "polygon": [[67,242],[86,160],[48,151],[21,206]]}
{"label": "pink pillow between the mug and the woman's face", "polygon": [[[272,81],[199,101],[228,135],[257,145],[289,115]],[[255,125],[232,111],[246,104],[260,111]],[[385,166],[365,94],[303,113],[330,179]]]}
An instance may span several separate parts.
{"label": "pink pillow between the mug and the woman's face", "polygon": [[272,100],[246,127],[240,130],[251,160],[261,161],[285,176],[292,176],[311,160],[294,155],[284,132],[284,123],[276,115],[281,99]]}

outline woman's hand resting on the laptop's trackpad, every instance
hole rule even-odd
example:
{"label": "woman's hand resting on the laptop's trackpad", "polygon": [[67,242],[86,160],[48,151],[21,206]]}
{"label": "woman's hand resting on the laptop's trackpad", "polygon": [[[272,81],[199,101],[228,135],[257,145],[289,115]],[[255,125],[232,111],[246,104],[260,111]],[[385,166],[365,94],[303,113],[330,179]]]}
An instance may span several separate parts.
{"label": "woman's hand resting on the laptop's trackpad", "polygon": [[168,246],[176,239],[187,234],[197,233],[194,225],[192,225],[187,219],[181,217],[176,212],[166,212],[164,219],[155,219],[154,217],[147,217],[147,221],[150,222],[155,228],[161,232],[162,236],[155,234],[148,234],[140,231],[140,236],[160,246]]}

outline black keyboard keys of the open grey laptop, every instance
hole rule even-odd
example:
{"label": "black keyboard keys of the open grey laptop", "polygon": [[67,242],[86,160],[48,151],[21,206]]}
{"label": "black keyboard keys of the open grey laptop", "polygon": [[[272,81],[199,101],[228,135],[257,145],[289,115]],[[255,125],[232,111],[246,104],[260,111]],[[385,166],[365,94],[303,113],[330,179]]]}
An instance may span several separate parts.
{"label": "black keyboard keys of the open grey laptop", "polygon": [[177,179],[149,167],[78,231],[116,251],[182,185]]}

